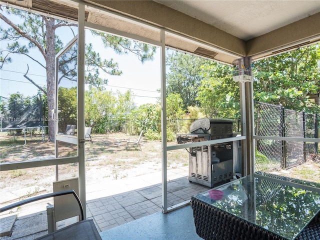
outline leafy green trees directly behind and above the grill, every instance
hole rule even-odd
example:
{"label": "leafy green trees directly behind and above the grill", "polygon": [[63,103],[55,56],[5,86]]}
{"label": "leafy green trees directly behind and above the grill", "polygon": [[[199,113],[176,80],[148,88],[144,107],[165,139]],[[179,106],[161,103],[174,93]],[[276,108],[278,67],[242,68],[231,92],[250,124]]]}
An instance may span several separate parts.
{"label": "leafy green trees directly behind and above the grill", "polygon": [[171,53],[166,64],[167,95],[178,93],[183,109],[201,107],[207,117],[239,115],[239,88],[230,66],[181,52]]}

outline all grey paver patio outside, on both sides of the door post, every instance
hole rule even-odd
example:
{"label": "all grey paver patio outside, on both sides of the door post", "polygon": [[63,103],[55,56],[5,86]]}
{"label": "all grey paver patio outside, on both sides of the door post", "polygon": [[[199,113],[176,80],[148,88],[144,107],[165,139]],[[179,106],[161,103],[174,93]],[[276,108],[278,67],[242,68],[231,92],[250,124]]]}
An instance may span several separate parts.
{"label": "all grey paver patio outside, on both sides of the door post", "polygon": [[[191,195],[209,188],[197,183],[190,183],[187,180],[187,174],[187,166],[168,171],[168,206],[189,200]],[[161,211],[161,172],[88,185],[86,192],[86,218],[92,218],[98,231],[104,231]],[[45,235],[47,222],[43,209],[48,203],[47,200],[44,200],[40,207],[36,205],[23,208],[22,206],[17,212],[18,216],[13,225],[12,235],[10,237],[3,236],[0,239],[28,240]],[[1,215],[1,217],[4,216]],[[23,228],[26,223],[39,219],[41,224],[36,224],[38,228]]]}

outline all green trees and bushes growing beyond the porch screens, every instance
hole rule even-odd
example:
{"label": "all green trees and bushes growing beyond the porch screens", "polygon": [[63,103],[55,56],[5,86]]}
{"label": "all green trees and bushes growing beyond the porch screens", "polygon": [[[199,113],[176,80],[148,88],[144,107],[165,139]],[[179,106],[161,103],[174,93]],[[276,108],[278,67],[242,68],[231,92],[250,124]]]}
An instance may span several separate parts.
{"label": "all green trees and bushes growing beyond the porch screens", "polygon": [[[10,23],[6,18],[10,15],[28,24]],[[36,86],[39,88],[38,95],[45,101],[41,116],[49,117],[53,108],[52,72],[54,69],[51,67],[52,62],[46,58],[47,52],[43,50],[46,44],[43,35],[44,33],[53,34],[53,37],[55,28],[68,26],[72,29],[76,26],[73,23],[33,13],[28,14],[13,8],[8,9],[6,13],[1,13],[1,18],[7,23],[1,26],[2,39],[14,40],[12,43],[9,42],[6,48],[1,48],[1,67],[5,63],[10,63],[11,54],[31,54],[29,51],[31,48],[37,48],[46,59],[45,63],[41,63],[40,60],[38,63],[46,68],[47,86],[44,88]],[[35,21],[42,27],[32,27],[32,22]],[[23,33],[18,31],[19,29]],[[36,37],[28,37],[28,32]],[[104,47],[110,47],[118,53],[133,52],[142,62],[152,59],[156,50],[154,46],[123,37],[98,31],[91,31],[91,34],[102,39]],[[27,38],[30,44],[26,45],[20,41],[22,38]],[[39,39],[41,44],[37,44]],[[59,36],[55,36],[54,39],[55,43],[47,45],[47,48],[50,47],[50,51],[56,53],[63,44]],[[100,73],[119,75],[122,71],[113,59],[101,59],[99,53],[93,50],[92,44],[86,45],[85,49],[85,82],[88,86],[85,91],[85,125],[92,127],[92,133],[138,134],[143,130],[144,136],[148,139],[160,139],[160,102],[136,106],[130,90],[125,93],[106,90],[103,84],[107,84],[107,79],[102,79]],[[75,79],[76,69],[74,64],[70,64],[75,62],[75,50],[76,48],[71,47],[70,56],[61,58],[59,81],[63,77],[70,81]],[[166,73],[167,141],[174,140],[176,133],[188,132],[190,123],[196,118],[239,118],[239,85],[232,79],[232,66],[169,49],[166,65],[168,69]],[[308,96],[320,91],[319,67],[318,43],[253,62],[254,100],[281,104],[293,110],[318,113],[319,106]],[[32,79],[27,77],[27,72],[24,77],[32,83]],[[2,115],[12,117],[23,114],[16,111],[24,109],[31,103],[30,100],[23,101],[23,97],[16,92],[12,93],[8,100],[1,101]],[[18,107],[13,109],[13,105]],[[64,119],[65,124],[76,123],[76,88],[58,86],[58,109],[58,116]],[[49,125],[49,129],[52,127]],[[63,125],[61,127],[64,128]],[[52,131],[49,130],[49,139],[52,138],[51,134]]]}

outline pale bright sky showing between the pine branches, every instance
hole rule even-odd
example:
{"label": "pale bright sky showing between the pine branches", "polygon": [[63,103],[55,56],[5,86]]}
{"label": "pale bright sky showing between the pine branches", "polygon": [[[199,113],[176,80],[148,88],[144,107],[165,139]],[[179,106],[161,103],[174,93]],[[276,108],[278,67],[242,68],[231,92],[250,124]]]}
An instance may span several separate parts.
{"label": "pale bright sky showing between the pine branches", "polygon": [[[64,44],[72,39],[71,31],[57,32],[57,34],[63,36],[62,41]],[[119,55],[111,48],[104,48],[99,37],[93,37],[88,30],[86,30],[85,40],[86,43],[92,43],[93,50],[99,52],[101,59],[113,58],[123,72],[120,76],[101,74],[102,78],[108,79],[108,83],[105,85],[106,90],[112,90],[114,93],[119,90],[123,93],[131,89],[135,95],[134,102],[136,105],[148,102],[155,103],[157,101],[157,97],[160,96],[160,93],[156,91],[160,88],[159,48],[157,48],[153,60],[141,63],[133,53]],[[1,49],[5,45],[6,42],[1,41]],[[43,59],[37,50],[31,50],[31,53],[35,58]],[[17,91],[23,93],[24,96],[36,95],[38,89],[23,77],[23,74],[26,73],[28,64],[29,71],[27,76],[40,86],[45,86],[45,69],[21,54],[11,54],[11,58],[12,62],[4,64],[0,69],[0,96],[9,97],[10,94]],[[42,62],[44,61],[42,60]]]}

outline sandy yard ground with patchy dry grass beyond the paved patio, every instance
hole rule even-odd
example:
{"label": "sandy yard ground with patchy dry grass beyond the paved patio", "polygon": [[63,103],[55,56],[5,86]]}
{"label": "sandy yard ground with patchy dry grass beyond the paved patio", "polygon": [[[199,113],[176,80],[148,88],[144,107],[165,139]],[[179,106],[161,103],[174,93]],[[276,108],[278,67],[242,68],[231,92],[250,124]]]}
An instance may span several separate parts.
{"label": "sandy yard ground with patchy dry grass beyond the paved patio", "polygon": [[[113,181],[125,177],[143,175],[161,170],[161,141],[149,141],[142,137],[141,148],[130,145],[126,149],[128,135],[124,133],[92,134],[93,143],[85,143],[86,184]],[[137,137],[137,136],[136,136]],[[33,140],[36,137],[33,136]],[[1,138],[1,141],[3,137]],[[23,142],[22,142],[23,144]],[[50,159],[54,157],[54,143],[32,142],[26,145],[0,146],[1,162]],[[176,142],[168,142],[176,144]],[[76,147],[59,146],[64,156],[76,154]],[[168,169],[188,165],[188,153],[185,149],[167,152]],[[78,176],[76,163],[58,165],[59,179]],[[307,162],[273,173],[295,178],[320,182],[320,157],[314,156]],[[51,192],[55,181],[55,166],[18,169],[0,172],[0,203]],[[10,194],[7,194],[10,193]],[[7,197],[3,197],[6,195]]]}

